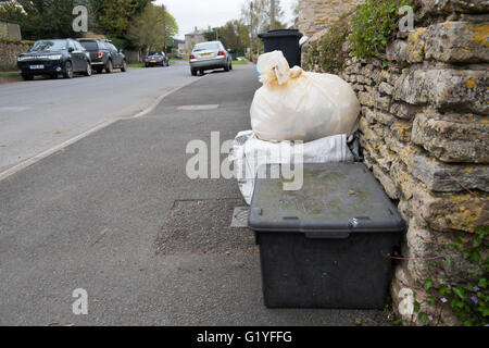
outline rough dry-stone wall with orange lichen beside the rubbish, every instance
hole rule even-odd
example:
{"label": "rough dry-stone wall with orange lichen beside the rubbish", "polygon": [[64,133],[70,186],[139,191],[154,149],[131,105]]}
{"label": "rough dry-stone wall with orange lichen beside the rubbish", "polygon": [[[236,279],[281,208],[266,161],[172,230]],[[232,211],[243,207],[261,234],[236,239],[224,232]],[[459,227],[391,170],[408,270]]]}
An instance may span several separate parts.
{"label": "rough dry-stone wall with orange lichen beside the rubbish", "polygon": [[[406,260],[399,261],[391,286],[394,310],[402,288],[423,302],[424,279],[441,282],[426,262],[436,248],[467,238],[489,217],[488,3],[423,0],[414,30],[376,58],[349,54],[339,73],[362,104],[365,163],[409,224]],[[322,35],[303,48],[304,57],[319,50]],[[312,70],[324,72],[321,57]],[[446,270],[454,279],[466,271],[462,259]],[[448,304],[422,310],[431,324],[457,324]]]}

